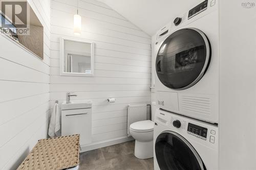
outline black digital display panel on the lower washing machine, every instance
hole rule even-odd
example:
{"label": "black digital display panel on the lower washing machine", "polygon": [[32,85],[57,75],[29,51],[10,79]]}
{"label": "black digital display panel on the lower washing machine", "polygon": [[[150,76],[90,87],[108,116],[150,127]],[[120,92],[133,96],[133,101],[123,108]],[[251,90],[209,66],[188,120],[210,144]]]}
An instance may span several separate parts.
{"label": "black digital display panel on the lower washing machine", "polygon": [[187,133],[206,140],[207,128],[188,123]]}

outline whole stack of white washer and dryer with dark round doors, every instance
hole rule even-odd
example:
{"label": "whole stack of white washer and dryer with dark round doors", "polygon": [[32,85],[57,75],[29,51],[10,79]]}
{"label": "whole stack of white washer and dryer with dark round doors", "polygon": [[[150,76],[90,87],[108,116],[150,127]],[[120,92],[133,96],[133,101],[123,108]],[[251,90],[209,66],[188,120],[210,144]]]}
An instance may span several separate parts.
{"label": "whole stack of white washer and dryer with dark round doors", "polygon": [[218,169],[217,0],[180,14],[157,33],[155,169]]}

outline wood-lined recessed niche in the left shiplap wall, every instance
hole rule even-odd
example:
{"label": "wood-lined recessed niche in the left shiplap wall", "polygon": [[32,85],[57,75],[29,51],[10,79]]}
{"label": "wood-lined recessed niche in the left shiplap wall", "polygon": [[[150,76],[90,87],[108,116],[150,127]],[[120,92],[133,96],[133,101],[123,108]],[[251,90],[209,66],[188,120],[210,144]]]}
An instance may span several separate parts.
{"label": "wood-lined recessed niche in the left shiplap wall", "polygon": [[0,12],[1,34],[9,36],[40,59],[44,59],[44,27],[29,2],[0,0]]}

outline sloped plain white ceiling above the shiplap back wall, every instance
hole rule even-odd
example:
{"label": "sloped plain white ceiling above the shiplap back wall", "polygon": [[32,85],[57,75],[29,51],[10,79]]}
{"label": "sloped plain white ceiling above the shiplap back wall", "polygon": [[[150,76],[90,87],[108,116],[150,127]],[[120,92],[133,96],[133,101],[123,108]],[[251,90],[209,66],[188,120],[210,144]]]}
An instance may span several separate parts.
{"label": "sloped plain white ceiling above the shiplap back wall", "polygon": [[202,0],[98,0],[130,20],[148,35]]}

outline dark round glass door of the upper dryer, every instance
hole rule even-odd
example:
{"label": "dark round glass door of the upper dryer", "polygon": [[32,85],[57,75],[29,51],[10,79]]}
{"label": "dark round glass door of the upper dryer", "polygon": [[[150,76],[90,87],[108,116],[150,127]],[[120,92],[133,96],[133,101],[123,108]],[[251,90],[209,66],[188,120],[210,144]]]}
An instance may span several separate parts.
{"label": "dark round glass door of the upper dryer", "polygon": [[206,35],[195,28],[178,30],[161,44],[156,57],[156,72],[166,87],[184,90],[205,74],[211,48]]}

